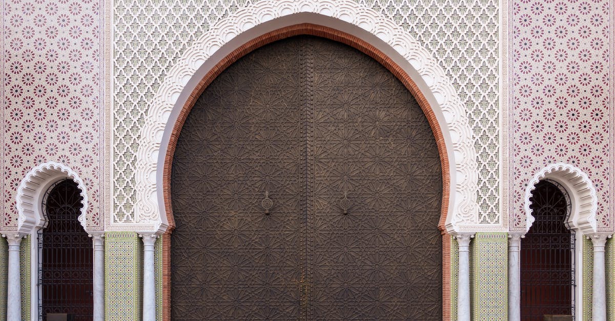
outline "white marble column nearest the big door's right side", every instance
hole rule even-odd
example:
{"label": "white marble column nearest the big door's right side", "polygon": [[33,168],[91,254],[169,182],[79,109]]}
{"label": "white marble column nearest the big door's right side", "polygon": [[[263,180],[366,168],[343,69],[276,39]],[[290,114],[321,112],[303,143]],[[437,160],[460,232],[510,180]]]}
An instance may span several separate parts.
{"label": "white marble column nearest the big door's right side", "polygon": [[474,234],[457,234],[459,244],[459,286],[457,289],[457,320],[470,321],[470,239]]}

